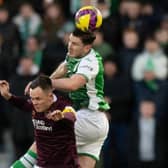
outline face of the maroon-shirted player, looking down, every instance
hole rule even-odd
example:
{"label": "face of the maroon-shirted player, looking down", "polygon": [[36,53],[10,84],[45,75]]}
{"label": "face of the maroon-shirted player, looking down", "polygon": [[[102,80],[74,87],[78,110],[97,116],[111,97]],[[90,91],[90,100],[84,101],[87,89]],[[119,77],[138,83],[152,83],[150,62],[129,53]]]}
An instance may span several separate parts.
{"label": "face of the maroon-shirted player, looking down", "polygon": [[52,92],[43,91],[40,87],[30,89],[30,97],[37,112],[45,112],[53,103]]}

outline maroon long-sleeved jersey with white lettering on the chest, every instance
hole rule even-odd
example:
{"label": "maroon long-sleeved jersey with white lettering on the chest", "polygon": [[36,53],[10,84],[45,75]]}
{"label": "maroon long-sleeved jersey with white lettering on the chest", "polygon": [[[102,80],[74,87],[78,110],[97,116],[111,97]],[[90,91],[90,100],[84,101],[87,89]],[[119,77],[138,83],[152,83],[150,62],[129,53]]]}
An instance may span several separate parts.
{"label": "maroon long-sleeved jersey with white lettering on the chest", "polygon": [[65,113],[64,119],[46,118],[48,112],[63,111],[69,103],[58,97],[47,112],[36,112],[30,100],[12,96],[10,102],[24,111],[32,111],[37,145],[37,165],[43,168],[78,168],[74,133],[75,116]]}

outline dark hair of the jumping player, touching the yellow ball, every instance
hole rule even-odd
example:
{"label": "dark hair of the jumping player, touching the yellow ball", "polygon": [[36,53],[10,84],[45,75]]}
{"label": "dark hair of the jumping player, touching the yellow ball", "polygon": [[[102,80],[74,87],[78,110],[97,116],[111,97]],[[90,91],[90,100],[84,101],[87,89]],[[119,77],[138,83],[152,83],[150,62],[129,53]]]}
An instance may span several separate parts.
{"label": "dark hair of the jumping player, touching the yellow ball", "polygon": [[92,44],[96,39],[96,36],[93,32],[83,32],[77,28],[72,32],[72,34],[76,37],[79,37],[84,45]]}

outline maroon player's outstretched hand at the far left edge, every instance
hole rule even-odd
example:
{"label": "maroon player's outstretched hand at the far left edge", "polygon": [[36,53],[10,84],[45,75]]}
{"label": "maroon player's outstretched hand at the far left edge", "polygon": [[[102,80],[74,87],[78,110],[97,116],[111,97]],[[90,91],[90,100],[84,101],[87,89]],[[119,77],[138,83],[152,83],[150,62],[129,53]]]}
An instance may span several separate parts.
{"label": "maroon player's outstretched hand at the far left edge", "polygon": [[9,92],[9,83],[5,80],[0,81],[0,93],[6,100],[9,100],[12,96]]}

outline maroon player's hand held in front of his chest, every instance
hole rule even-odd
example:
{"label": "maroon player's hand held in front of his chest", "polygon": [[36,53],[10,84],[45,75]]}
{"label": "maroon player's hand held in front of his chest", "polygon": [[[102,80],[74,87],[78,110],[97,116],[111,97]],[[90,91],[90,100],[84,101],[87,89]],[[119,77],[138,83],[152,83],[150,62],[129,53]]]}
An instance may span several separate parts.
{"label": "maroon player's hand held in front of his chest", "polygon": [[64,115],[61,110],[55,110],[51,113],[48,113],[46,117],[53,121],[59,121],[64,118]]}

